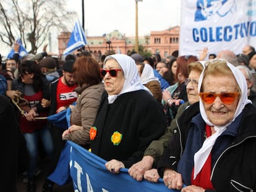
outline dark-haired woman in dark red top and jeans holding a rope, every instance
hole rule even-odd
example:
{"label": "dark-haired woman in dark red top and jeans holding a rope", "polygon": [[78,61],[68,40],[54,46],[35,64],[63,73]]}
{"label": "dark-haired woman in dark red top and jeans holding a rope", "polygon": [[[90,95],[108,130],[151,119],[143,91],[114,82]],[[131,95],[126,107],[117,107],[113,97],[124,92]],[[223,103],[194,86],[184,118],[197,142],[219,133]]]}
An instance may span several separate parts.
{"label": "dark-haired woman in dark red top and jeans holding a rope", "polygon": [[35,191],[35,174],[38,160],[38,143],[42,141],[49,158],[53,156],[53,141],[47,126],[48,108],[41,106],[43,98],[49,100],[49,84],[35,61],[23,61],[19,66],[20,77],[13,81],[12,90],[17,90],[26,101],[19,104],[20,130],[27,141],[30,164],[27,170],[27,191]]}

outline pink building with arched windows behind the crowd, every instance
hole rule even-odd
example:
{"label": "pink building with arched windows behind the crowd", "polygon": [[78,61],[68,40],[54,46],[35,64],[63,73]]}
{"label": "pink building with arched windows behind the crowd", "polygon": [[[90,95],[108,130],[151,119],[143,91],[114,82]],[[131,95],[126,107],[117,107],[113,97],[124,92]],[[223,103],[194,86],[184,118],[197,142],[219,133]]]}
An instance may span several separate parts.
{"label": "pink building with arched windows behind the crowd", "polygon": [[[58,36],[59,54],[62,55],[69,41],[69,32],[62,32]],[[87,36],[88,44],[85,49],[92,52],[96,58],[109,52],[129,54],[135,48],[135,36],[126,36],[114,30],[103,36]],[[151,31],[149,36],[139,36],[139,46],[151,54],[158,53],[162,58],[174,54],[179,50],[179,26],[164,31]]]}

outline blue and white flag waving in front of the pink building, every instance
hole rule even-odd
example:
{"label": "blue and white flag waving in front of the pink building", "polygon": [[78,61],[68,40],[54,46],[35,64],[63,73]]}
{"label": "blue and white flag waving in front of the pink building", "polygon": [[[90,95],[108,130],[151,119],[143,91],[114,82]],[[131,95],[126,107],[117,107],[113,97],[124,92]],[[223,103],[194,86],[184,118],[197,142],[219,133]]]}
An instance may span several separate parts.
{"label": "blue and white flag waving in front of the pink building", "polygon": [[69,42],[67,43],[67,48],[64,50],[63,54],[69,54],[70,52],[75,51],[75,49],[79,49],[82,46],[85,46],[85,44],[87,44],[85,33],[80,23],[77,21],[75,22],[75,26],[70,35]]}

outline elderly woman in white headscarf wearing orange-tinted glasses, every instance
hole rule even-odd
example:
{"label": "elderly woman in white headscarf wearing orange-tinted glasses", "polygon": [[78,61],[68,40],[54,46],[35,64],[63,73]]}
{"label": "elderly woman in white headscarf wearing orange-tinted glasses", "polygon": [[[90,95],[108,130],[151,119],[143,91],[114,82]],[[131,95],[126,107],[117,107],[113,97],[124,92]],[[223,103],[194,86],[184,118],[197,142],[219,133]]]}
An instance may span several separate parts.
{"label": "elderly woman in white headscarf wearing orange-tinted glasses", "polygon": [[224,60],[206,65],[198,82],[200,113],[178,126],[158,173],[170,189],[254,191],[256,108],[247,99],[247,83]]}

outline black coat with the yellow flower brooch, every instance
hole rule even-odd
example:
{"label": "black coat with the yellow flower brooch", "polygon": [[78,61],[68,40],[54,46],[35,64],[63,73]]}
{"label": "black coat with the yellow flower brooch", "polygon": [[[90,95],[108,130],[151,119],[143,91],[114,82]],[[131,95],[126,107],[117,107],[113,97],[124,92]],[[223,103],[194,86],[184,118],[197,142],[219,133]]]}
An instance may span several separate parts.
{"label": "black coat with the yellow flower brooch", "polygon": [[[164,113],[161,104],[144,90],[121,94],[108,104],[103,92],[93,126],[96,138],[91,141],[92,152],[109,161],[122,161],[126,168],[139,162],[151,141],[164,133]],[[114,131],[122,134],[119,145],[111,142]]]}

